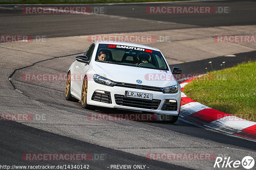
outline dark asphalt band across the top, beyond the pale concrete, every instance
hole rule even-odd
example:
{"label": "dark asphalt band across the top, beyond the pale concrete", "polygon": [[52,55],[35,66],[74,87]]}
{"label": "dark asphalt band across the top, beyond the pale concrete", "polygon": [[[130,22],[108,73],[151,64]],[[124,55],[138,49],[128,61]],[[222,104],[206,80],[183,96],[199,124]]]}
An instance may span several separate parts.
{"label": "dark asphalt band across the top, beyond the pale concrete", "polygon": [[[95,11],[94,13],[97,14],[100,14],[100,12],[97,11],[99,11],[100,8],[103,8],[101,13],[106,14],[106,16],[84,14],[26,14],[22,13],[22,7],[25,7],[24,5],[0,6],[0,34],[46,36],[46,38],[51,38],[120,32],[159,31],[195,27],[256,24],[256,18],[252,17],[255,15],[255,1],[80,6],[90,7],[92,11]],[[209,6],[228,7],[229,10],[228,13],[210,14],[154,14],[147,13],[146,8],[150,6]],[[122,21],[116,19],[121,17],[125,18],[123,18]]]}

